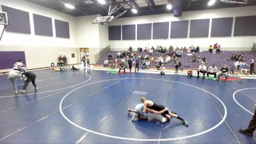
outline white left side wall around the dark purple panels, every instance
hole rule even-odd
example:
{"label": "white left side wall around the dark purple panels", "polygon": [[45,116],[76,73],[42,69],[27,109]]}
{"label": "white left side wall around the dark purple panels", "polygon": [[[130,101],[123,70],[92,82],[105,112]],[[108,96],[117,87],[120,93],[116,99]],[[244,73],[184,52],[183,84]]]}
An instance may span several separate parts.
{"label": "white left side wall around the dark purple panels", "polygon": [[[28,34],[4,31],[3,37],[0,41],[0,51],[24,51],[28,68],[49,67],[51,62],[56,64],[58,61],[57,58],[60,54],[61,56],[65,54],[67,58],[70,58],[68,60],[68,64],[80,63],[79,47],[77,47],[76,44],[75,17],[23,0],[0,0],[0,4],[28,12],[31,29],[31,33]],[[1,5],[0,9],[2,7]],[[40,21],[42,18],[47,19],[47,24],[52,24],[52,29],[50,29],[49,33],[40,31],[40,28],[43,29],[44,27],[37,25],[40,24],[38,20]],[[49,21],[49,19],[51,20]],[[58,25],[60,26],[58,28],[60,28],[60,31],[56,31],[56,20],[58,20]],[[40,26],[40,28],[35,28],[34,24],[36,24],[36,26]],[[67,27],[69,28],[69,38],[68,36],[65,36],[67,33],[61,33],[61,29],[67,29]],[[0,28],[0,31],[2,31],[2,28]],[[71,58],[72,53],[76,55],[75,58]],[[17,58],[17,60],[19,60],[19,58]],[[8,70],[0,70],[0,72],[5,71]]]}

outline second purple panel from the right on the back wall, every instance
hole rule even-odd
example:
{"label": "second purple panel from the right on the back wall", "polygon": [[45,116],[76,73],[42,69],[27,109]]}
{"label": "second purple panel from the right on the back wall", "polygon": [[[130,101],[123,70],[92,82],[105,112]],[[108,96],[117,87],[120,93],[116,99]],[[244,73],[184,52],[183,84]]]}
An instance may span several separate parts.
{"label": "second purple panel from the right on the back wall", "polygon": [[212,19],[211,37],[231,36],[233,17]]}

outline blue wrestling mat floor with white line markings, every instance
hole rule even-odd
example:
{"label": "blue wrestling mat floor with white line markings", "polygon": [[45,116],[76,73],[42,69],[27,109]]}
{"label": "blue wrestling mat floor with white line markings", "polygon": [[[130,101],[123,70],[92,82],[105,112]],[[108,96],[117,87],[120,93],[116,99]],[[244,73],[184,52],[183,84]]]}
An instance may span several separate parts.
{"label": "blue wrestling mat floor with white line markings", "polygon": [[[0,143],[256,143],[248,126],[256,80],[212,81],[102,70],[38,70],[36,84],[14,95],[0,76]],[[24,81],[18,79],[19,90]],[[185,118],[131,122],[127,108],[145,96]]]}

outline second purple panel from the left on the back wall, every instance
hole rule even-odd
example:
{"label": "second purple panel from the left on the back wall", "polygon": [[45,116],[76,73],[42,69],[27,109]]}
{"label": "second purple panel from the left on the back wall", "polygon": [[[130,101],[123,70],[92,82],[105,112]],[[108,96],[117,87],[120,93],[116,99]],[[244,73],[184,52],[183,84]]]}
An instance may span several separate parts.
{"label": "second purple panel from the left on the back wall", "polygon": [[135,24],[122,26],[123,40],[135,40]]}

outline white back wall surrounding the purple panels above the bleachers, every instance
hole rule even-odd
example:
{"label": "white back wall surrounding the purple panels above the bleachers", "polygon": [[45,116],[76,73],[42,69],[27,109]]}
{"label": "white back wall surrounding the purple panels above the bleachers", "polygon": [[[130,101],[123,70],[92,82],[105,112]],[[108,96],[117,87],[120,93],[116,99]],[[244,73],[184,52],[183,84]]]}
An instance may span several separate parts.
{"label": "white back wall surrounding the purple panels above the bleachers", "polygon": [[[113,20],[109,24],[109,26],[127,26],[127,25],[134,25],[136,24],[136,29],[138,29],[138,24],[161,24],[168,22],[169,24],[169,30],[168,35],[165,32],[162,32],[163,38],[158,38],[159,35],[154,35],[154,29],[151,29],[151,38],[149,40],[143,40],[143,38],[137,38],[137,31],[136,30],[136,38],[135,40],[109,40],[109,44],[111,47],[111,51],[118,51],[118,50],[127,50],[129,46],[134,47],[135,49],[137,47],[145,47],[147,45],[156,47],[157,45],[162,45],[164,47],[170,47],[170,45],[173,45],[173,47],[189,47],[189,45],[200,45],[202,50],[208,49],[209,45],[215,44],[218,42],[218,44],[221,45],[222,49],[225,51],[250,51],[252,49],[253,42],[256,40],[256,36],[234,36],[234,24],[235,24],[235,17],[243,17],[243,16],[250,16],[250,15],[256,15],[256,6],[246,6],[241,8],[225,8],[225,9],[216,9],[216,10],[202,10],[202,11],[193,11],[193,12],[182,12],[182,17],[173,17],[173,13],[167,13],[167,14],[160,14],[160,15],[145,15],[140,17],[128,17],[128,18],[121,18]],[[213,29],[216,27],[216,23],[218,24],[218,20],[215,18],[225,18],[225,17],[231,17],[233,18],[232,22],[232,28],[227,28],[227,31],[225,33],[212,33],[214,36],[221,36],[221,37],[211,37],[211,24],[212,20],[214,22]],[[209,20],[209,33],[207,34],[207,37],[201,37],[205,35],[205,31],[202,31],[202,34],[200,35],[191,35],[190,34],[190,27],[191,27],[191,20],[200,21],[201,19],[208,19]],[[171,22],[172,21],[181,21],[181,20],[189,20],[188,24],[188,36],[185,36],[186,38],[173,38],[174,35],[171,35]],[[186,21],[184,22],[184,26],[186,25]],[[195,23],[194,22],[194,23]],[[205,21],[207,22],[207,21]],[[229,21],[230,22],[230,21]],[[202,24],[202,22],[200,22]],[[228,23],[228,20],[225,23],[221,23],[221,26],[228,26],[230,23]],[[163,24],[163,26],[165,26]],[[162,26],[162,27],[163,27]],[[157,28],[157,26],[152,26],[152,28]],[[197,29],[197,28],[193,28]],[[220,29],[225,29],[220,27]],[[206,29],[207,30],[207,29]],[[231,30],[231,36],[227,36],[228,33],[230,33]],[[141,30],[140,30],[141,31]],[[196,31],[200,31],[200,28]],[[157,31],[156,31],[157,32]],[[182,31],[183,33],[184,31]],[[140,32],[141,33],[141,32]],[[180,37],[184,37],[186,35],[183,33],[180,33]],[[193,33],[193,31],[191,31]],[[198,32],[199,33],[199,32]],[[201,32],[200,32],[201,33]],[[194,33],[195,34],[195,33]],[[154,38],[155,36],[155,38]],[[172,38],[170,38],[172,36]],[[141,36],[140,36],[141,37]],[[174,36],[175,37],[175,36]],[[189,38],[190,37],[190,38]],[[191,38],[196,37],[196,38]],[[164,39],[165,38],[165,39]],[[138,40],[140,39],[140,40]],[[142,39],[142,40],[141,40]],[[146,38],[147,39],[147,38]]]}

